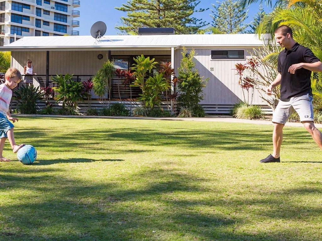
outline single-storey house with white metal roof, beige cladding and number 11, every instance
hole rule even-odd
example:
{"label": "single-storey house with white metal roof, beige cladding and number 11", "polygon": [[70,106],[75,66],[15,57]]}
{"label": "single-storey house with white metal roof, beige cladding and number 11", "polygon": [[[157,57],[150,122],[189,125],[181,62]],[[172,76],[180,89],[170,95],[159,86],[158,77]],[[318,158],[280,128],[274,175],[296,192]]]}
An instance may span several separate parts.
{"label": "single-storey house with white metal roof, beige cladding and number 11", "polygon": [[[194,34],[194,35],[117,35],[102,36],[37,36],[23,37],[1,47],[11,51],[11,65],[22,73],[28,59],[32,60],[34,85],[50,76],[73,74],[83,81],[95,75],[108,58],[117,67],[129,69],[133,58],[143,54],[155,61],[171,61],[177,74],[182,57],[182,48],[187,52],[195,49],[195,63],[201,76],[209,78],[201,102],[206,113],[228,113],[233,104],[243,100],[242,88],[238,85],[235,64],[246,63],[252,50],[263,45],[256,34]],[[37,78],[41,77],[41,78]],[[46,82],[45,82],[46,83]],[[118,79],[114,85],[118,85]],[[116,88],[115,88],[116,89]],[[119,98],[115,90],[111,98]],[[93,98],[98,98],[94,96]],[[123,89],[121,98],[129,100]],[[254,94],[253,104],[266,105],[259,94]]]}

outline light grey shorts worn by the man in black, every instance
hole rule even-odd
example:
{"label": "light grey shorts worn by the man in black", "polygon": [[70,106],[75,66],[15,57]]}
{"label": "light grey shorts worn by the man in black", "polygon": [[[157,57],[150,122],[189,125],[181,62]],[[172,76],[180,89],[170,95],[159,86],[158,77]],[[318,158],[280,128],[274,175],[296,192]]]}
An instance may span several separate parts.
{"label": "light grey shorts worn by the man in black", "polygon": [[309,94],[291,97],[287,101],[279,100],[272,122],[285,124],[294,111],[298,113],[301,122],[314,121],[312,101],[313,97]]}

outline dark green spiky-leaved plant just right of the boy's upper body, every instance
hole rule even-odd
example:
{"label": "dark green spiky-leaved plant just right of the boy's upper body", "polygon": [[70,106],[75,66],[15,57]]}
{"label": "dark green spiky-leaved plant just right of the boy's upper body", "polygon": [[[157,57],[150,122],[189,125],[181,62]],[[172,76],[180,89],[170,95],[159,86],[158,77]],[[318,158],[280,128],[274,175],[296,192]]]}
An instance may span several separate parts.
{"label": "dark green spiky-leaved plant just right of the boy's upper body", "polygon": [[36,114],[37,104],[45,100],[44,93],[32,85],[21,85],[13,91],[12,99],[18,102],[18,111],[20,114]]}

